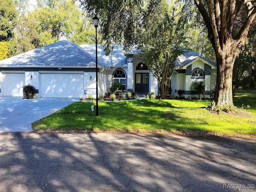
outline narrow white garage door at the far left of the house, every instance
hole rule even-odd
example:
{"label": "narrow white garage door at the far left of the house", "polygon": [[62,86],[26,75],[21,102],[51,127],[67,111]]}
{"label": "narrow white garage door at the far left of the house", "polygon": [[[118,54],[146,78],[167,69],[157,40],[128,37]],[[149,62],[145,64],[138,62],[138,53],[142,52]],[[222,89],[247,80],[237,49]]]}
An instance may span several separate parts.
{"label": "narrow white garage door at the far left of the house", "polygon": [[3,73],[3,95],[23,96],[24,73]]}

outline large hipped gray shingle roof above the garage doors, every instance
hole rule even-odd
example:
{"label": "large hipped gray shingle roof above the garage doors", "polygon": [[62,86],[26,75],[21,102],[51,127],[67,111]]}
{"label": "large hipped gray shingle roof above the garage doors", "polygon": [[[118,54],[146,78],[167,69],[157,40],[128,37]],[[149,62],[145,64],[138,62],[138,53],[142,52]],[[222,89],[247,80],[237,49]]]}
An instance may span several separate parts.
{"label": "large hipped gray shingle roof above the garage doors", "polygon": [[[5,60],[0,61],[0,66],[7,67],[91,67],[95,68],[96,59],[77,44],[69,40],[34,49]],[[98,67],[108,68],[105,64],[98,62]]]}

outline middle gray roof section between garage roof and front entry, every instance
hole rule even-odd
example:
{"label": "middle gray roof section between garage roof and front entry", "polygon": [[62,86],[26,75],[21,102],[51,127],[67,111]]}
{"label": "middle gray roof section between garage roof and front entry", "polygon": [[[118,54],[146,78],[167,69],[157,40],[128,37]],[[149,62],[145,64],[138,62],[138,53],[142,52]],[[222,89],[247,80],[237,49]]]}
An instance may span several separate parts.
{"label": "middle gray roof section between garage roof and front entry", "polygon": [[[95,57],[95,44],[80,45],[86,52]],[[124,66],[127,64],[126,56],[124,55],[123,46],[114,46],[113,53],[106,56],[106,52],[102,45],[97,46],[98,61],[106,64],[109,67]]]}

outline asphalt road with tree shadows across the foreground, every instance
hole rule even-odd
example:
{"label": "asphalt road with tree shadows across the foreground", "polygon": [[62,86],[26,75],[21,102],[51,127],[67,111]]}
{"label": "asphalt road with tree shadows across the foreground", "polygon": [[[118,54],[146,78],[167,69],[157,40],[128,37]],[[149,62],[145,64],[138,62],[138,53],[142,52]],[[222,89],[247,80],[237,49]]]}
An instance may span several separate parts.
{"label": "asphalt road with tree shadows across the foreground", "polygon": [[0,133],[0,192],[255,192],[256,140]]}

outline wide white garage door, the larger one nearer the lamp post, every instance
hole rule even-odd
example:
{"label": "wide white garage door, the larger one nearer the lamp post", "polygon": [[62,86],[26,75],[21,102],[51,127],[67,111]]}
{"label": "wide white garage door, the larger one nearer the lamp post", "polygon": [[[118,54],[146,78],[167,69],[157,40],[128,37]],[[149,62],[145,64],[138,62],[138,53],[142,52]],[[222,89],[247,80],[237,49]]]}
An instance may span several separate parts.
{"label": "wide white garage door, the larger one nearer the lamp post", "polygon": [[84,74],[40,74],[41,97],[84,97]]}

